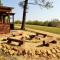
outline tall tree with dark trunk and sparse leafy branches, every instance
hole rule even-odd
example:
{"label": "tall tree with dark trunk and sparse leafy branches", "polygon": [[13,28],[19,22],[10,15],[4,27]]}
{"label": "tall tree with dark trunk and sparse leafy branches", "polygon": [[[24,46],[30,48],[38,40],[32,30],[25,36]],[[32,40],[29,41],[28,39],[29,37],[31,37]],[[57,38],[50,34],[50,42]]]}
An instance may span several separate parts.
{"label": "tall tree with dark trunk and sparse leafy branches", "polygon": [[52,8],[52,2],[50,0],[34,0],[34,3],[28,3],[28,0],[19,2],[19,6],[23,7],[23,18],[21,29],[25,29],[26,11],[28,4],[39,5],[40,7]]}

